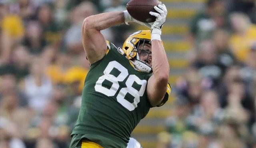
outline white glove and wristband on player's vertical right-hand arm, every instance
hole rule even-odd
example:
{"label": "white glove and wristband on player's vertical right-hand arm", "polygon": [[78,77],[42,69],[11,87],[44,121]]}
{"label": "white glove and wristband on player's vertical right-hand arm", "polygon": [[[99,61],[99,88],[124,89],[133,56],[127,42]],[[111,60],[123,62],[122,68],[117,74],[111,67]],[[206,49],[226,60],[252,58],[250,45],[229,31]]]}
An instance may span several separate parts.
{"label": "white glove and wristband on player's vertical right-hand arm", "polygon": [[164,4],[159,4],[158,7],[154,6],[155,10],[158,12],[149,12],[150,15],[156,17],[156,21],[151,26],[151,41],[153,39],[161,41],[162,26],[166,20],[167,9]]}

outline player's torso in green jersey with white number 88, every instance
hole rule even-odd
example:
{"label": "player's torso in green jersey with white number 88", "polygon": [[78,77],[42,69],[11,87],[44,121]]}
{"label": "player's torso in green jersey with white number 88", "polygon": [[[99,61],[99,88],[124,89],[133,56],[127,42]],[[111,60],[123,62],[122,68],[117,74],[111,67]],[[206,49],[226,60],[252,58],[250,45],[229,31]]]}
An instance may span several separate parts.
{"label": "player's torso in green jersey with white number 88", "polygon": [[85,129],[76,134],[106,136],[123,147],[122,143],[128,142],[130,133],[150,109],[146,95],[149,77],[150,74],[136,71],[111,45],[108,54],[92,64],[86,77],[76,124],[76,128]]}

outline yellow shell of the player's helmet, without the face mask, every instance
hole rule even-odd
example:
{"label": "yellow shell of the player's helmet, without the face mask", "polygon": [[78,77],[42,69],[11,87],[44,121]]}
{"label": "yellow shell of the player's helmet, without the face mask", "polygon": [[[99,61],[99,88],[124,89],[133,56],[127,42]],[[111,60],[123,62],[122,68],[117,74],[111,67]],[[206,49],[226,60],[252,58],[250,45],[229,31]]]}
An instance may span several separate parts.
{"label": "yellow shell of the player's helmet, without the face mask", "polygon": [[146,42],[151,43],[151,31],[140,30],[138,32],[134,32],[125,40],[122,49],[126,53],[127,58],[132,59],[137,55],[136,49],[138,49],[138,45]]}

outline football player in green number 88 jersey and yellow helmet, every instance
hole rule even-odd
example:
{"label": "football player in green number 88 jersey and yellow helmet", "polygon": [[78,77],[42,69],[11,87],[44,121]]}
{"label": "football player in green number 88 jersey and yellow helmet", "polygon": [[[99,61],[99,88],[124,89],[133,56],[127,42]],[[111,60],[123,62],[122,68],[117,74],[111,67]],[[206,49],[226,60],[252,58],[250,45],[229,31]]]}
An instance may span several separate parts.
{"label": "football player in green number 88 jersey and yellow helmet", "polygon": [[[126,148],[130,134],[151,107],[166,103],[171,88],[169,65],[161,41],[164,4],[153,23],[134,20],[127,11],[90,16],[82,25],[83,46],[90,63],[82,106],[70,148]],[[137,22],[151,30],[130,35],[122,48],[105,40],[100,30]]]}

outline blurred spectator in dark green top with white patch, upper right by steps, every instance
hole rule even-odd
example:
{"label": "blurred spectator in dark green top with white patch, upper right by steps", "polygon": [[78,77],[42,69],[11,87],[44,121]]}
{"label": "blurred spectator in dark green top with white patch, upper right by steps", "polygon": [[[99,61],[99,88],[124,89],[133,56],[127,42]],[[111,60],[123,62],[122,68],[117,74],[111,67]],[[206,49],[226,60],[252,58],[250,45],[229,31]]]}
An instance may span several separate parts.
{"label": "blurred spectator in dark green top with white patch, upper right by steps", "polygon": [[202,39],[210,39],[216,28],[228,26],[225,1],[207,0],[206,9],[196,14],[190,22],[190,41],[197,45]]}

